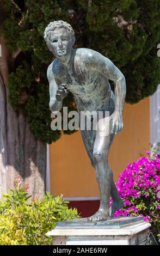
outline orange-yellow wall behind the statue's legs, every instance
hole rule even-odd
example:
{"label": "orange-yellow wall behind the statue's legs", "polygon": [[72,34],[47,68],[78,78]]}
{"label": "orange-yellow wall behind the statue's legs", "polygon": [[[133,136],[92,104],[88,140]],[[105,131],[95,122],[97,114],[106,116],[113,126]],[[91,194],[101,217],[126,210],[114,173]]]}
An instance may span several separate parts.
{"label": "orange-yellow wall behind the statue's legs", "polygon": [[[150,114],[149,97],[137,104],[125,104],[124,130],[115,136],[110,148],[109,164],[114,181],[140,154],[149,150]],[[65,197],[99,196],[95,169],[82,142],[80,131],[63,135],[50,146],[51,192]]]}

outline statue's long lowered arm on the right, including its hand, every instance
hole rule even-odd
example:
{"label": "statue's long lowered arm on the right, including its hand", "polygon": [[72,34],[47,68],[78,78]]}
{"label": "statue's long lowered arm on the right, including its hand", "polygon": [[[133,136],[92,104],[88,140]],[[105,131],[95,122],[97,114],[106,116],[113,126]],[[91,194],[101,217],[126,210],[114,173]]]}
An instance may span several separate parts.
{"label": "statue's long lowered arm on the right, including its hand", "polygon": [[125,77],[113,62],[101,54],[96,56],[96,63],[97,65],[94,66],[94,68],[114,82],[115,109],[114,113],[110,116],[110,120],[112,120],[112,133],[116,134],[120,132],[124,126],[122,112],[126,97]]}

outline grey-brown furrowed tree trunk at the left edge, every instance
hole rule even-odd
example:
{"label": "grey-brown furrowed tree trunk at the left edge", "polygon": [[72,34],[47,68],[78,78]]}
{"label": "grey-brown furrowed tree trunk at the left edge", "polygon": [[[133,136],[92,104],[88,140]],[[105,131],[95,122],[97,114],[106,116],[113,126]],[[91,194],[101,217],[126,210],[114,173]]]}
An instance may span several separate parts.
{"label": "grey-brown furrowed tree trunk at the left edge", "polygon": [[22,113],[7,101],[0,72],[0,194],[13,188],[19,174],[29,193],[42,196],[46,184],[46,144],[36,141]]}

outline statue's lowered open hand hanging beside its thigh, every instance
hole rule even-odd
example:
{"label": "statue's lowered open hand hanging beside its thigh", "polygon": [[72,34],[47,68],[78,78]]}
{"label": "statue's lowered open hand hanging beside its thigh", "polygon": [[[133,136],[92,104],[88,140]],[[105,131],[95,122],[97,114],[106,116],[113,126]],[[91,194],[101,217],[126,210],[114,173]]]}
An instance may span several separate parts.
{"label": "statue's lowered open hand hanging beside its thigh", "polygon": [[112,115],[110,115],[110,121],[112,122],[111,125],[111,133],[118,133],[124,127],[124,122],[122,118],[122,113],[115,111]]}

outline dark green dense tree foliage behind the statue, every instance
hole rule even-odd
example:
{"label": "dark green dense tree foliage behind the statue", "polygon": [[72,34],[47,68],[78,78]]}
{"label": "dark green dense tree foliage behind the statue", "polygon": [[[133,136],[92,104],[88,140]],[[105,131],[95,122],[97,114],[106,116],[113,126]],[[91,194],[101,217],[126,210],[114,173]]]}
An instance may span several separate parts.
{"label": "dark green dense tree foliage behind the statue", "polygon": [[[124,73],[126,101],[136,103],[153,94],[160,80],[158,0],[2,0],[8,17],[4,38],[17,52],[9,75],[9,102],[27,117],[30,130],[45,143],[60,132],[50,129],[46,70],[53,56],[43,39],[50,21],[65,20],[76,32],[75,47],[88,47],[111,59]],[[73,108],[69,95],[65,104]]]}

